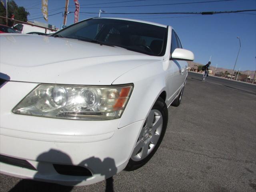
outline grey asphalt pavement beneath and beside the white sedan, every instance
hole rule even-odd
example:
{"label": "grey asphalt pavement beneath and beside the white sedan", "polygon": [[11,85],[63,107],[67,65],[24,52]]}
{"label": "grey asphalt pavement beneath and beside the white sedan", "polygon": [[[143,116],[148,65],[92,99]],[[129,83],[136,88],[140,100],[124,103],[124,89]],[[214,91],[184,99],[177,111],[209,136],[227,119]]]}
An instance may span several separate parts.
{"label": "grey asphalt pavement beneath and beside the white sedan", "polygon": [[256,86],[189,73],[164,140],[133,172],[66,187],[0,174],[0,192],[255,192]]}

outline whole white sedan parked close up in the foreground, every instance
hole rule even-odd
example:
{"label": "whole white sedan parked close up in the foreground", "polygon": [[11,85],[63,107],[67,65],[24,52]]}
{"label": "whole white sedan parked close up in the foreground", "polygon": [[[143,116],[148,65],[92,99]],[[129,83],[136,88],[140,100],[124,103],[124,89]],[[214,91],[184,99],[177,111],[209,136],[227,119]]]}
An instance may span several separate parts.
{"label": "whole white sedan parked close up in the foreground", "polygon": [[171,26],[139,20],[0,35],[0,172],[87,185],[140,168],[180,104],[186,60]]}

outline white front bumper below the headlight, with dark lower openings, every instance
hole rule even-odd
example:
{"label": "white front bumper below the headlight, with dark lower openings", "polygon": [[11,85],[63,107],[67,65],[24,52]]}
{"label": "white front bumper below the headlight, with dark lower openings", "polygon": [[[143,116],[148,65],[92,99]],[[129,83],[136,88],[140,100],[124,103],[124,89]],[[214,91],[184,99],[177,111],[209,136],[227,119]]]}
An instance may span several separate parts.
{"label": "white front bumper below the headlight, with dark lower openings", "polygon": [[[35,169],[0,162],[0,172],[63,185],[87,185],[123,170],[144,120],[118,129],[120,119],[82,121],[12,114],[36,84],[8,82],[0,91],[0,154]],[[18,89],[18,90],[17,90]],[[14,95],[13,90],[17,90]],[[60,174],[54,164],[87,168],[92,176]]]}

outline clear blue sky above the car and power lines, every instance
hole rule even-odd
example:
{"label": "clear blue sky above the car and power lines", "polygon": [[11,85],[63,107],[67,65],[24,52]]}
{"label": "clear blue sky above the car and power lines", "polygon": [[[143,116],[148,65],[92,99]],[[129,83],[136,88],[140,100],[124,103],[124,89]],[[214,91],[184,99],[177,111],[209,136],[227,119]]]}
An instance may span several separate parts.
{"label": "clear blue sky above the car and power lines", "polygon": [[[14,0],[18,6],[24,6],[30,16],[28,20],[42,16],[41,0]],[[124,2],[126,1],[126,2]],[[186,2],[204,2],[213,0],[79,0],[80,12],[96,12],[97,14],[80,13],[79,21],[98,16],[100,9],[108,13],[143,13],[143,12],[206,12],[256,9],[256,0],[232,0],[223,2],[138,6],[152,4],[174,4]],[[48,15],[64,12],[65,0],[48,0]],[[122,2],[122,3],[121,3]],[[94,5],[89,5],[94,4]],[[106,8],[109,6],[138,6]],[[90,8],[95,7],[95,8]],[[74,1],[69,0],[68,11],[74,12]],[[195,54],[194,62],[206,64],[212,56],[212,66],[233,69],[239,49],[241,50],[236,63],[236,69],[256,70],[256,12],[214,14],[214,15],[113,15],[107,17],[122,17],[140,19],[173,26],[185,49]],[[60,28],[63,24],[62,13],[48,17],[48,23]],[[45,22],[43,18],[35,19]],[[74,13],[68,14],[67,25],[74,23]]]}

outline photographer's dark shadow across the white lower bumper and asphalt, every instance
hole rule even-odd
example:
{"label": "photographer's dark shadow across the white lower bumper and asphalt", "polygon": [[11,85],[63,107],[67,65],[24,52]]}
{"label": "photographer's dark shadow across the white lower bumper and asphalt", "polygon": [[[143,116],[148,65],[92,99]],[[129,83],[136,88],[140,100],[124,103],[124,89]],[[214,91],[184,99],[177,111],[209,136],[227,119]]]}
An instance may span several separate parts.
{"label": "photographer's dark shadow across the white lower bumper and asphalt", "polygon": [[[38,170],[38,172],[35,174],[34,178],[45,178],[45,175],[49,174],[49,170],[53,169],[52,164],[48,164],[46,162],[60,162],[60,160],[65,165],[72,165],[71,158],[67,154],[59,150],[51,149],[48,152],[40,154],[37,158],[37,161],[39,163],[36,169]],[[95,164],[97,166],[94,166]],[[94,170],[92,170],[92,172],[94,175],[100,174],[101,176],[104,176],[106,180],[105,191],[114,191],[112,176],[115,175],[117,172],[114,159],[105,158],[103,161],[101,161],[100,158],[90,157],[80,162],[78,166],[88,168],[96,167],[94,168]],[[16,184],[11,190],[9,190],[9,192],[70,192],[73,189],[74,185],[79,184],[80,182],[87,180],[89,178],[90,176],[76,177],[76,181],[67,182],[68,185],[72,186],[63,186],[60,184],[23,179],[20,182],[18,182],[18,184]]]}

